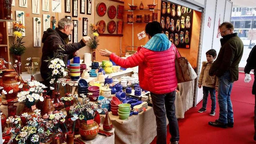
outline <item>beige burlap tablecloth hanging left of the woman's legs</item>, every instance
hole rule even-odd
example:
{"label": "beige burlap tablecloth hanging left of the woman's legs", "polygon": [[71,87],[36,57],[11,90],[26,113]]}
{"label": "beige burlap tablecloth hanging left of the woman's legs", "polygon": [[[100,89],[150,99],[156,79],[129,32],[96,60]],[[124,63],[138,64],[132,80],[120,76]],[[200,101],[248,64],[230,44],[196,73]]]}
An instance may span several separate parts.
{"label": "beige burlap tablecloth hanging left of the woman's legs", "polygon": [[[100,116],[103,122],[105,115]],[[121,120],[111,112],[109,112],[109,117],[115,128],[116,144],[149,144],[157,135],[155,115],[151,106],[148,106],[145,112],[132,115],[127,120]]]}

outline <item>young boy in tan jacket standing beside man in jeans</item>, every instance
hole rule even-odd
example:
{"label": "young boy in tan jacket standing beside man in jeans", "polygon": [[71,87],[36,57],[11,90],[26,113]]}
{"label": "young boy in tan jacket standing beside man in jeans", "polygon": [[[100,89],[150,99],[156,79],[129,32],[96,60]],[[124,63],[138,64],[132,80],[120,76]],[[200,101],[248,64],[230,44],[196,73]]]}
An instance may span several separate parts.
{"label": "young boy in tan jacket standing beside man in jeans", "polygon": [[211,95],[211,113],[210,115],[215,115],[216,109],[216,96],[215,92],[218,91],[218,78],[214,76],[209,76],[209,70],[216,58],[217,53],[215,49],[210,49],[206,52],[207,61],[202,64],[202,70],[198,79],[198,87],[203,87],[203,105],[202,108],[198,110],[199,113],[206,111],[207,99],[210,93]]}

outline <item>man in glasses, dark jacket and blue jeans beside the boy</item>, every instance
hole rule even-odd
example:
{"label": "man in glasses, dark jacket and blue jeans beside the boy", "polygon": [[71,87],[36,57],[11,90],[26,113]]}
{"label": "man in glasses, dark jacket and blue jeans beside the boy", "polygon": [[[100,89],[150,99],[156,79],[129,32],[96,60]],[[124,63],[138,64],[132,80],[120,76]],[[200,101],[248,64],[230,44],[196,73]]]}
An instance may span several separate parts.
{"label": "man in glasses, dark jacket and blue jeans beside the boy", "polygon": [[219,26],[221,39],[221,49],[216,61],[214,61],[209,75],[218,77],[218,103],[220,115],[215,122],[209,125],[215,127],[233,127],[233,109],[230,99],[233,82],[238,80],[238,65],[243,55],[243,42],[234,33],[234,26],[229,22],[224,22]]}

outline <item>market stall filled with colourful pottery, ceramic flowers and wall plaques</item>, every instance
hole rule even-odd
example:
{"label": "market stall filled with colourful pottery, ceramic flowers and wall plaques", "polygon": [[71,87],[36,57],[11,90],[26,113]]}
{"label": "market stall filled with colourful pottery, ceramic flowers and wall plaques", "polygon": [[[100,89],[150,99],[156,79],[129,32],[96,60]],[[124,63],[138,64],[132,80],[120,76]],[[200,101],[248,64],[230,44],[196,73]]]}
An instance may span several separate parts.
{"label": "market stall filled with colourful pottery, ceramic flowers and wall plaques", "polygon": [[[158,21],[198,73],[203,10],[204,5],[179,0],[0,2],[4,143],[150,143],[156,122],[150,92],[139,86],[138,67],[122,68],[98,51],[106,48],[127,58],[147,42],[145,25]],[[87,35],[92,39],[71,60],[51,59],[51,81],[44,83],[42,35],[64,17],[74,23],[69,43]],[[195,104],[196,88],[196,80],[178,84],[177,118]]]}

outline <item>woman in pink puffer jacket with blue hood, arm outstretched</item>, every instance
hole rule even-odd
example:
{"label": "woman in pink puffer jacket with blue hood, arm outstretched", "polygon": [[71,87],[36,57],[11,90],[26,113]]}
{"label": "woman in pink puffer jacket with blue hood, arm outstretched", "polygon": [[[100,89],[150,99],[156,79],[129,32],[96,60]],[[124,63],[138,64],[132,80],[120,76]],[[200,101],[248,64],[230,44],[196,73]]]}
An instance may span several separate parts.
{"label": "woman in pink puffer jacket with blue hood, arm outstretched", "polygon": [[[150,22],[145,27],[150,39],[144,47],[127,59],[120,58],[108,50],[100,50],[117,65],[128,68],[139,66],[141,88],[150,91],[157,122],[157,143],[166,143],[166,116],[169,120],[171,144],[179,143],[179,127],[175,115],[177,78],[175,73],[175,45],[161,33],[159,22]],[[165,108],[164,108],[165,105]]]}

